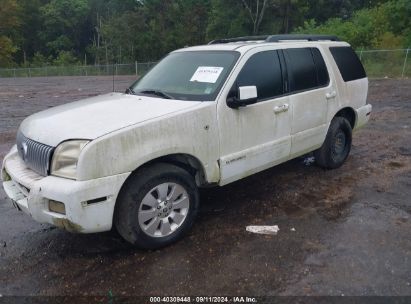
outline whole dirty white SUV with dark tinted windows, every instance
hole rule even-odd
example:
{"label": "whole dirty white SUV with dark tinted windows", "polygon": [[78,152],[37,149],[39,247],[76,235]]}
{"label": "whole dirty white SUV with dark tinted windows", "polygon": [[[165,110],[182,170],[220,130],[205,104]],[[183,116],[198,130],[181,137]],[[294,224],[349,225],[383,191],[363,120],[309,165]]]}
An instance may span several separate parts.
{"label": "whole dirty white SUV with dark tinted windows", "polygon": [[36,221],[72,232],[115,226],[141,248],[186,233],[198,188],[226,185],[314,151],[346,160],[369,119],[368,79],[332,36],[242,37],[170,53],[126,92],[23,121],[3,186]]}

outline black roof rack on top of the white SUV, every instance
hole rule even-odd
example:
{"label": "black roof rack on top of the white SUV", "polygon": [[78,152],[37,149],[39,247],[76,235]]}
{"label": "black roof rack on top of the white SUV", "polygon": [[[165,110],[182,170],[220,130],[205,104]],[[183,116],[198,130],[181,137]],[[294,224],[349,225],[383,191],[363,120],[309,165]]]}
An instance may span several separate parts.
{"label": "black roof rack on top of the white SUV", "polygon": [[304,41],[340,41],[337,36],[333,35],[263,35],[263,36],[244,36],[236,38],[216,39],[208,44],[220,44],[242,41],[264,41],[264,42],[281,42],[288,40]]}

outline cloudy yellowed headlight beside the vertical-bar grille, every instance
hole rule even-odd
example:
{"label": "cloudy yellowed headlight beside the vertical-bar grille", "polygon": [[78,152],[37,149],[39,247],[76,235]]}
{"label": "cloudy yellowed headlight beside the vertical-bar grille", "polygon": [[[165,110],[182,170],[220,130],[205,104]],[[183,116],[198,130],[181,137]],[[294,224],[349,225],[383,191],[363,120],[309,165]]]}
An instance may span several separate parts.
{"label": "cloudy yellowed headlight beside the vertical-bar grille", "polygon": [[57,146],[51,161],[51,175],[76,179],[77,161],[89,140],[70,140]]}

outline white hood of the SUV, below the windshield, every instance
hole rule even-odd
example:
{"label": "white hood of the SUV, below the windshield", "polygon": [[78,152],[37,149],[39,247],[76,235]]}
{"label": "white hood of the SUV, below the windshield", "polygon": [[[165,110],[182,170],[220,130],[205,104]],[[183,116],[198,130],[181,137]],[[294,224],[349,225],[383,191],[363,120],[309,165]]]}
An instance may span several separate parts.
{"label": "white hood of the SUV, below the windshield", "polygon": [[115,130],[199,104],[110,93],[31,115],[22,122],[20,131],[34,141],[55,147],[68,139],[93,140]]}

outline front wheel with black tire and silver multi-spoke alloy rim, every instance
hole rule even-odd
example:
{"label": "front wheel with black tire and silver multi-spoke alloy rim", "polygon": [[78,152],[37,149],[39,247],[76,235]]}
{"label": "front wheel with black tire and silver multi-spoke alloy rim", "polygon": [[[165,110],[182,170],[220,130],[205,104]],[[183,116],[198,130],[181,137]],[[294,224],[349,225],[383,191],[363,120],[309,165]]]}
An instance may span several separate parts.
{"label": "front wheel with black tire and silver multi-spoke alloy rim", "polygon": [[193,176],[180,167],[158,163],[126,181],[117,198],[114,225],[128,242],[156,249],[182,238],[199,208]]}

